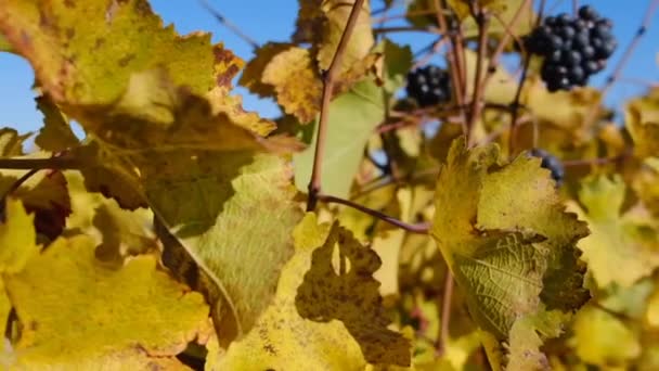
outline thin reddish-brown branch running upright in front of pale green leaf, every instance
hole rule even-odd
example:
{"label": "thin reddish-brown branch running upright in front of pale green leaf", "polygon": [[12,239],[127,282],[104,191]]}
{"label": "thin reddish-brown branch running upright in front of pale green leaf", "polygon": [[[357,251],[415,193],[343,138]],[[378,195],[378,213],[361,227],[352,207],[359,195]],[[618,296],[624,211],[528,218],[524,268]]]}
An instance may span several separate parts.
{"label": "thin reddish-brown branch running upright in front of pale green leaf", "polygon": [[332,91],[334,91],[334,76],[337,74],[339,66],[341,65],[344,52],[346,50],[346,47],[348,46],[348,40],[350,40],[350,36],[352,35],[352,30],[354,29],[357,18],[359,17],[362,11],[363,4],[364,0],[356,0],[352,4],[352,10],[350,11],[348,22],[346,23],[346,28],[344,29],[338,46],[336,47],[336,51],[334,52],[332,63],[330,63],[330,67],[327,68],[327,71],[323,72],[323,99],[321,103],[321,113],[318,124],[315,152],[313,154],[313,169],[311,171],[311,179],[309,180],[309,199],[307,201],[308,212],[315,209],[315,204],[318,202],[316,196],[321,192],[321,167],[323,163],[323,155],[325,153],[327,120],[330,116],[330,102],[332,100]]}

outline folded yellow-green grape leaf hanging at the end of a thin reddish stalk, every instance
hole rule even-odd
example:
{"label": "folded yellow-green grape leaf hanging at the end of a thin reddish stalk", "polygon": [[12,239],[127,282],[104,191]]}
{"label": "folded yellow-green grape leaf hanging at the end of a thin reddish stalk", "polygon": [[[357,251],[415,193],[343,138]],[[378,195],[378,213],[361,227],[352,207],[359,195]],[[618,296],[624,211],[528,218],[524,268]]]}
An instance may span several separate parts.
{"label": "folded yellow-green grape leaf hanging at the end of a thin reddish stalk", "polygon": [[529,356],[541,364],[537,342],[512,343],[513,329],[516,336],[556,336],[560,321],[543,331],[538,323],[550,310],[570,312],[587,300],[576,250],[585,223],[564,212],[537,158],[502,164],[498,146],[467,150],[464,139],[440,169],[435,207],[431,234],[483,330],[491,363],[502,367],[507,354],[508,361]]}

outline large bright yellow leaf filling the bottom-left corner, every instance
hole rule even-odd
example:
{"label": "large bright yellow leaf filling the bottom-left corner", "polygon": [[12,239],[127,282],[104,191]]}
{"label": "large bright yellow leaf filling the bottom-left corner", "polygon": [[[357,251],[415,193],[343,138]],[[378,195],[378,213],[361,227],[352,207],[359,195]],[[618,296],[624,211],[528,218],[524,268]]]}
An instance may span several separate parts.
{"label": "large bright yellow leaf filling the bottom-left corner", "polygon": [[3,276],[23,329],[11,368],[182,369],[173,356],[209,330],[203,296],[158,270],[155,256],[114,270],[95,260],[94,246],[85,235],[59,239]]}

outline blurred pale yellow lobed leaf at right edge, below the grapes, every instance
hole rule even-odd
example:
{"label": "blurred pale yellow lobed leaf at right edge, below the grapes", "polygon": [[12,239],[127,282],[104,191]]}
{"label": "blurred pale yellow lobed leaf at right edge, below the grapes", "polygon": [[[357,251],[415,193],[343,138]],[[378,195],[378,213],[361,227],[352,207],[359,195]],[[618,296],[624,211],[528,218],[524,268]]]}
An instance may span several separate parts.
{"label": "blurred pale yellow lobed leaf at right edge, below the grapes", "polygon": [[579,247],[599,287],[611,283],[630,287],[659,267],[659,231],[633,212],[621,215],[624,196],[620,177],[598,176],[581,184],[579,200],[585,209],[574,206],[592,231]]}

